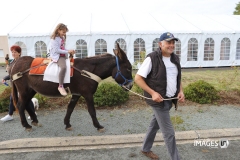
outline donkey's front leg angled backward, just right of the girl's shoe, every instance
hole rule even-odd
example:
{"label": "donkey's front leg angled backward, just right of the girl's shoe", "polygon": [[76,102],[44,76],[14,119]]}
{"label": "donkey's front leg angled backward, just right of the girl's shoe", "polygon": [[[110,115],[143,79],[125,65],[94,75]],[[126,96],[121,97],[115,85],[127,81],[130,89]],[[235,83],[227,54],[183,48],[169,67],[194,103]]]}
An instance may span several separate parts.
{"label": "donkey's front leg angled backward, just right of the girl's shoe", "polygon": [[80,98],[80,96],[78,96],[78,95],[72,95],[72,99],[71,99],[70,103],[68,104],[67,113],[64,118],[64,124],[66,125],[66,128],[65,128],[66,130],[72,130],[71,124],[70,124],[70,117],[71,117],[71,114],[72,114],[79,98]]}

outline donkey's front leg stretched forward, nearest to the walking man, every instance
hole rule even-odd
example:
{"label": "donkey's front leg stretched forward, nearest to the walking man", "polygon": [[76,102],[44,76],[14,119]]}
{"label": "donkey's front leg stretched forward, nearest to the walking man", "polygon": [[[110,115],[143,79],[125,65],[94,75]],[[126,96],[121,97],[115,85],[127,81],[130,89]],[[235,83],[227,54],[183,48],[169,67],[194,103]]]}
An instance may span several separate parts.
{"label": "donkey's front leg stretched forward, nearest to the walking man", "polygon": [[94,101],[93,101],[93,96],[90,95],[90,96],[87,96],[87,97],[84,97],[86,102],[87,102],[87,106],[88,106],[88,112],[92,118],[92,121],[93,121],[93,125],[94,127],[97,128],[97,130],[99,131],[102,131],[103,130],[103,126],[101,126],[97,120],[97,117],[96,117],[96,110],[95,110],[95,107],[94,107]]}

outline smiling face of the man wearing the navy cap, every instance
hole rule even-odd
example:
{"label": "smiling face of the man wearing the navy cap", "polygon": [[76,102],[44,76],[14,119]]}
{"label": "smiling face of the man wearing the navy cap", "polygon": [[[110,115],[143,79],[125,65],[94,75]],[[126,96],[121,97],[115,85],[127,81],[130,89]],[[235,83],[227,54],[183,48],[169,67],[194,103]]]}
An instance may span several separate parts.
{"label": "smiling face of the man wearing the navy cap", "polygon": [[158,44],[162,50],[163,56],[170,56],[173,53],[175,48],[175,40],[161,41]]}

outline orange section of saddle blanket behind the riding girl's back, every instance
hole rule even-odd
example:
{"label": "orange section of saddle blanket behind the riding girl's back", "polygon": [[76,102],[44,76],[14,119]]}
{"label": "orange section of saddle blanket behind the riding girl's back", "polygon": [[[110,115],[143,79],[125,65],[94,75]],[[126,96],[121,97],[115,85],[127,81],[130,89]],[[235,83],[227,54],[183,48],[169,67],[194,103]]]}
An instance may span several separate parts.
{"label": "orange section of saddle blanket behind the riding girl's back", "polygon": [[42,65],[42,66],[39,66],[39,65],[43,64],[45,60],[46,60],[46,58],[34,58],[32,61],[32,64],[31,64],[31,68],[32,67],[36,67],[36,68],[31,69],[29,71],[29,74],[30,75],[43,75],[47,65]]}

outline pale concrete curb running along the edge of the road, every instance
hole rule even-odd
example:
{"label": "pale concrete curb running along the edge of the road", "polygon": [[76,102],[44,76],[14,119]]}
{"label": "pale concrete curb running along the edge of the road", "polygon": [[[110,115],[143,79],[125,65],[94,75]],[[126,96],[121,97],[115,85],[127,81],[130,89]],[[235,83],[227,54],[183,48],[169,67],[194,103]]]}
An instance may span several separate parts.
{"label": "pale concrete curb running along the edge of the road", "polygon": [[[106,135],[106,136],[84,136],[84,137],[55,137],[55,138],[26,138],[0,142],[0,151],[32,149],[32,148],[74,148],[81,149],[93,148],[109,148],[106,146],[117,145],[115,148],[124,148],[126,146],[139,146],[142,144],[145,134],[131,135]],[[196,130],[181,131],[175,134],[177,143],[188,141],[193,143],[194,139],[209,138],[230,138],[240,139],[240,128],[212,129],[212,130]],[[189,140],[192,140],[189,142]],[[164,143],[162,134],[158,133],[154,143]],[[90,148],[89,148],[90,147]],[[114,147],[111,147],[114,148]]]}

